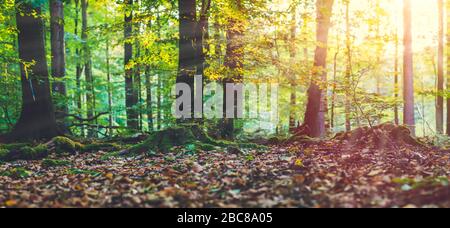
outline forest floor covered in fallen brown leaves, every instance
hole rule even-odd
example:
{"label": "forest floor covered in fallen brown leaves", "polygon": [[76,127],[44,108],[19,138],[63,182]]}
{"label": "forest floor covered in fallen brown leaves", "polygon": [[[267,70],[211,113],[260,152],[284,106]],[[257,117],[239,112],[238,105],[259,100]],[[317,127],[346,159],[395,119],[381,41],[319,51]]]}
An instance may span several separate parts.
{"label": "forest floor covered in fallen brown leaves", "polygon": [[370,140],[3,163],[0,207],[450,207],[449,151]]}

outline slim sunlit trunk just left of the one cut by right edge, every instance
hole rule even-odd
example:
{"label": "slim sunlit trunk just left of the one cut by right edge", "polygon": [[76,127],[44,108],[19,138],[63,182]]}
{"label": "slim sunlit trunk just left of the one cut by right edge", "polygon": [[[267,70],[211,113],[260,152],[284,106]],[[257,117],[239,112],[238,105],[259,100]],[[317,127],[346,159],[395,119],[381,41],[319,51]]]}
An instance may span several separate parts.
{"label": "slim sunlit trunk just left of the one cut by right edge", "polygon": [[436,101],[436,130],[444,133],[444,0],[438,0],[439,9],[439,48],[438,48],[438,80]]}

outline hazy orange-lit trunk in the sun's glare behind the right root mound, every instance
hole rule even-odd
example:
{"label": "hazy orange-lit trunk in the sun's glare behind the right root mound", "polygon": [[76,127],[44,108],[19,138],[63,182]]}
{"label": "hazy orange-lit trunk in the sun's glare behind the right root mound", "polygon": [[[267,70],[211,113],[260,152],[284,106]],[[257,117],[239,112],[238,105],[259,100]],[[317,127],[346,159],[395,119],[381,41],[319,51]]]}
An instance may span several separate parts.
{"label": "hazy orange-lit trunk in the sun's glare behind the right root mound", "polygon": [[415,135],[414,71],[411,31],[411,0],[404,0],[404,54],[403,54],[403,122]]}

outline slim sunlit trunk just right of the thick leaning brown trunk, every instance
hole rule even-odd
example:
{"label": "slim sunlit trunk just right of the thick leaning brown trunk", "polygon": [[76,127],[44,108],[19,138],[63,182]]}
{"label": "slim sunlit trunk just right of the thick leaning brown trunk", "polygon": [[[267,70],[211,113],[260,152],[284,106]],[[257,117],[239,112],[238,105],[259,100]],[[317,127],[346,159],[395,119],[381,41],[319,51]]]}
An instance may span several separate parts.
{"label": "slim sunlit trunk just right of the thick leaning brown trunk", "polygon": [[[351,123],[351,80],[353,74],[352,67],[352,40],[350,34],[350,0],[345,0],[345,44],[346,44],[346,69],[345,69],[345,130],[352,130]],[[377,78],[378,82],[378,78]]]}

